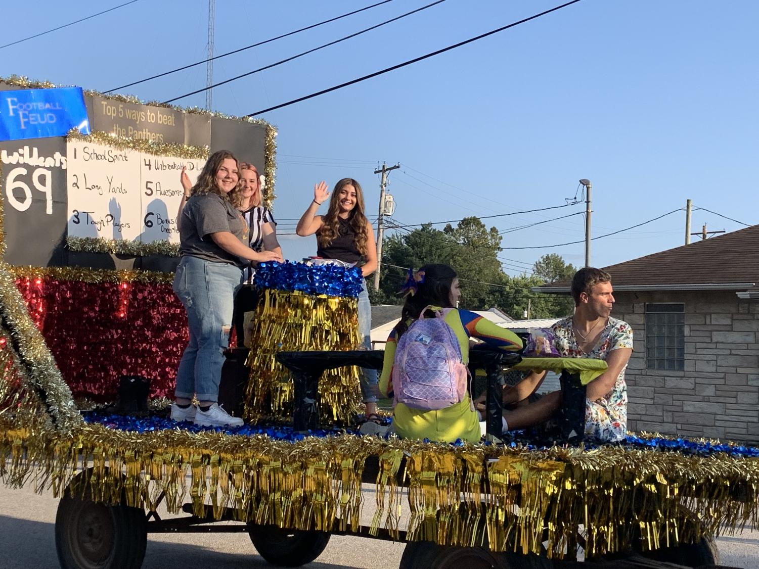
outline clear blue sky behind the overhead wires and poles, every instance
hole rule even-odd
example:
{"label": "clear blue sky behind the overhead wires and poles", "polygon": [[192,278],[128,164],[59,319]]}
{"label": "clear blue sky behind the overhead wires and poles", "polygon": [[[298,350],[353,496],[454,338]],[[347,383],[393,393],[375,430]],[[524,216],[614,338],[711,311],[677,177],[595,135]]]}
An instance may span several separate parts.
{"label": "clear blue sky behind the overhead wires and poles", "polygon": [[[431,0],[428,0],[431,2]],[[427,4],[395,0],[267,46],[216,60],[223,80]],[[121,2],[5,3],[3,41]],[[370,5],[364,2],[216,3],[216,53]],[[213,108],[246,115],[378,71],[531,16],[561,2],[446,0],[297,61],[228,83]],[[685,206],[746,224],[757,214],[759,3],[583,0],[452,52],[263,115],[279,127],[275,215],[289,259],[313,254],[291,235],[313,184],[356,178],[376,216],[377,165],[399,162],[389,191],[400,225],[557,206],[578,179],[593,183],[593,235]],[[205,58],[206,0],[140,0],[2,49],[0,75],[109,90]],[[165,100],[205,85],[198,66],[125,90]],[[203,106],[203,94],[177,104]],[[584,206],[486,220],[500,231]],[[745,227],[695,210],[693,231]],[[442,227],[442,226],[438,226]],[[289,234],[289,235],[288,235]],[[606,266],[677,247],[685,212],[595,240]],[[584,218],[513,231],[503,247],[584,238]],[[694,237],[694,240],[698,237]],[[545,253],[581,265],[584,244],[505,249],[514,275]]]}

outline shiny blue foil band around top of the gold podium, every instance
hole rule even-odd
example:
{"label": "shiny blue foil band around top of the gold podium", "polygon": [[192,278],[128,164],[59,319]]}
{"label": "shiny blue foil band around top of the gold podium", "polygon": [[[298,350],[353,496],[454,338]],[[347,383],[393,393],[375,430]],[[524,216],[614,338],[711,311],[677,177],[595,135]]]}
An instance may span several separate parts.
{"label": "shiny blue foil band around top of the gold podium", "polygon": [[364,277],[357,267],[269,261],[259,263],[254,285],[278,291],[357,298],[364,286]]}

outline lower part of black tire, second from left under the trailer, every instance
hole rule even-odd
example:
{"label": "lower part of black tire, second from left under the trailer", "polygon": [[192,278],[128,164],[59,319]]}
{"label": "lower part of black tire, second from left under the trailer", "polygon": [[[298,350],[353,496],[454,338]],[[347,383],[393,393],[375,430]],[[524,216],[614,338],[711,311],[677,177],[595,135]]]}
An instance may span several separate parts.
{"label": "lower part of black tire, second from left under the trailer", "polygon": [[332,535],[315,530],[283,530],[276,526],[247,524],[247,533],[258,554],[278,567],[300,567],[320,555]]}

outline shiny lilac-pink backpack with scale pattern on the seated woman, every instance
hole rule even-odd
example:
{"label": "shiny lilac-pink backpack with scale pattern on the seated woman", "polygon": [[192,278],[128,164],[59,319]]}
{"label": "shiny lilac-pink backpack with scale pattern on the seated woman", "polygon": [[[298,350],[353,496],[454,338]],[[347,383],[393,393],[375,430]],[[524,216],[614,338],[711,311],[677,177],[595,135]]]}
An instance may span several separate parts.
{"label": "shiny lilac-pink backpack with scale pattern on the seated woman", "polygon": [[395,404],[413,409],[439,410],[463,401],[469,371],[461,361],[458,338],[445,321],[454,309],[435,313],[435,318],[411,322],[398,340],[392,367]]}

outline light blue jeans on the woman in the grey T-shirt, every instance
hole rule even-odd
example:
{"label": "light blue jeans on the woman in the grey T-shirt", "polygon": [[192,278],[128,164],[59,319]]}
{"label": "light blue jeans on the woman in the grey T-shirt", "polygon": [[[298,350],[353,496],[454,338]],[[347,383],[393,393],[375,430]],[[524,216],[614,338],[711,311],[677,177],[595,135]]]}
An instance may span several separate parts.
{"label": "light blue jeans on the woman in the grey T-shirt", "polygon": [[190,343],[179,362],[176,397],[219,399],[224,350],[229,345],[235,292],[241,281],[242,270],[226,262],[194,256],[179,261],[174,292],[187,310]]}

